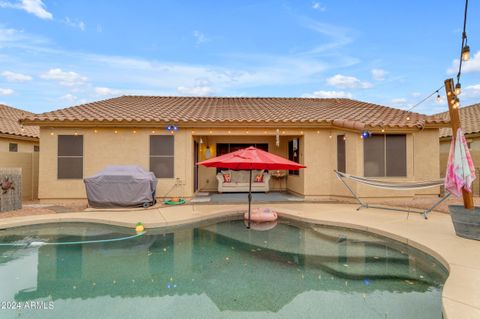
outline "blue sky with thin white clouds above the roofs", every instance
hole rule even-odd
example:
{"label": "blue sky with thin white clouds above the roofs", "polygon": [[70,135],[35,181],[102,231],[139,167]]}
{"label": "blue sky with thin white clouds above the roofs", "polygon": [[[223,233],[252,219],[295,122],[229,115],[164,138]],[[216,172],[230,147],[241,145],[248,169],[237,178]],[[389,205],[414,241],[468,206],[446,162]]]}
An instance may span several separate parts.
{"label": "blue sky with thin white clouds above the roofs", "polygon": [[[0,103],[316,96],[407,109],[455,76],[462,2],[0,0]],[[480,2],[469,12],[462,105],[480,102]],[[446,108],[432,97],[415,110]]]}

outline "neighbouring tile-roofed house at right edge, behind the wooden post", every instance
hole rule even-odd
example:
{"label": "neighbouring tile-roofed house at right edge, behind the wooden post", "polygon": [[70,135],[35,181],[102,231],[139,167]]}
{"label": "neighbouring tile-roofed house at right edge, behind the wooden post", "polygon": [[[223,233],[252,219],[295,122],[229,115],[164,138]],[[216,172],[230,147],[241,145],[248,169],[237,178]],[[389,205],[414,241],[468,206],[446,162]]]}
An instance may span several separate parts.
{"label": "neighbouring tile-roofed house at right edge, behind the wooden post", "polygon": [[[480,103],[465,106],[459,109],[460,122],[463,133],[467,140],[473,163],[476,167],[477,180],[473,182],[473,194],[480,195]],[[450,120],[448,112],[437,114],[444,119]],[[452,129],[440,129],[440,175],[445,176],[447,170],[450,142],[452,140]]]}

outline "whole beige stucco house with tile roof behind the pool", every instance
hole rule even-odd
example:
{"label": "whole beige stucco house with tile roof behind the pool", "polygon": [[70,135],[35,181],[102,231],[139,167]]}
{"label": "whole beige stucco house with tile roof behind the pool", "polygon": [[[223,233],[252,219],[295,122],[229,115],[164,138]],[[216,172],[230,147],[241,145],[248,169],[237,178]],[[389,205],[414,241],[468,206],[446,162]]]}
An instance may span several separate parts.
{"label": "whole beige stucco house with tile roof behind the pool", "polygon": [[[309,199],[349,197],[333,170],[391,181],[439,177],[439,129],[448,120],[321,98],[121,96],[26,116],[40,127],[39,198],[85,198],[83,178],[135,164],[158,178],[157,196],[217,190],[217,170],[197,161],[255,145],[307,166],[270,179],[270,190]],[[362,138],[362,132],[372,135]],[[362,197],[393,193],[354,185]]]}

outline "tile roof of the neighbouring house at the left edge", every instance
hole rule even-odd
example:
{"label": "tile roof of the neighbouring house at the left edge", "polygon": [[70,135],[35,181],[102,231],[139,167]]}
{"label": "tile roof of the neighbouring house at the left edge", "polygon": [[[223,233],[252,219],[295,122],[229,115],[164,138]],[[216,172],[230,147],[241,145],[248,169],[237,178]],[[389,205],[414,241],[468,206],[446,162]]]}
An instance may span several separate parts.
{"label": "tile roof of the neighbouring house at the left edge", "polygon": [[33,113],[0,104],[0,133],[38,138],[38,126],[22,127],[18,122],[25,116],[33,116]]}

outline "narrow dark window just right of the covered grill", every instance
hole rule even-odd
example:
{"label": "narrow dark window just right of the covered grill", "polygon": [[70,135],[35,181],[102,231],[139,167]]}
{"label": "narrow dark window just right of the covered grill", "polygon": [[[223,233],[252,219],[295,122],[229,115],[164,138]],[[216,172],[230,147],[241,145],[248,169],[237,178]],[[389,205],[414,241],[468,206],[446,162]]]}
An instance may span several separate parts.
{"label": "narrow dark window just right of the covered grill", "polygon": [[158,178],[174,176],[174,137],[171,135],[150,136],[150,170]]}

